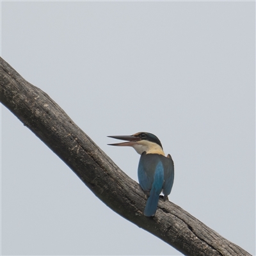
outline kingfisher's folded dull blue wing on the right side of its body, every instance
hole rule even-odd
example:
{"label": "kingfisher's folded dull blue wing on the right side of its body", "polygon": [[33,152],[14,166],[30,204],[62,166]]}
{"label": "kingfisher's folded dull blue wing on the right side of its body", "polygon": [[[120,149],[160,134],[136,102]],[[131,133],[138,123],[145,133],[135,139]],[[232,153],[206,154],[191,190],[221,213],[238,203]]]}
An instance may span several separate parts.
{"label": "kingfisher's folded dull blue wing on the right side of its body", "polygon": [[168,154],[166,161],[164,163],[164,184],[163,184],[163,194],[164,198],[168,196],[172,191],[174,180],[174,164],[172,157]]}

